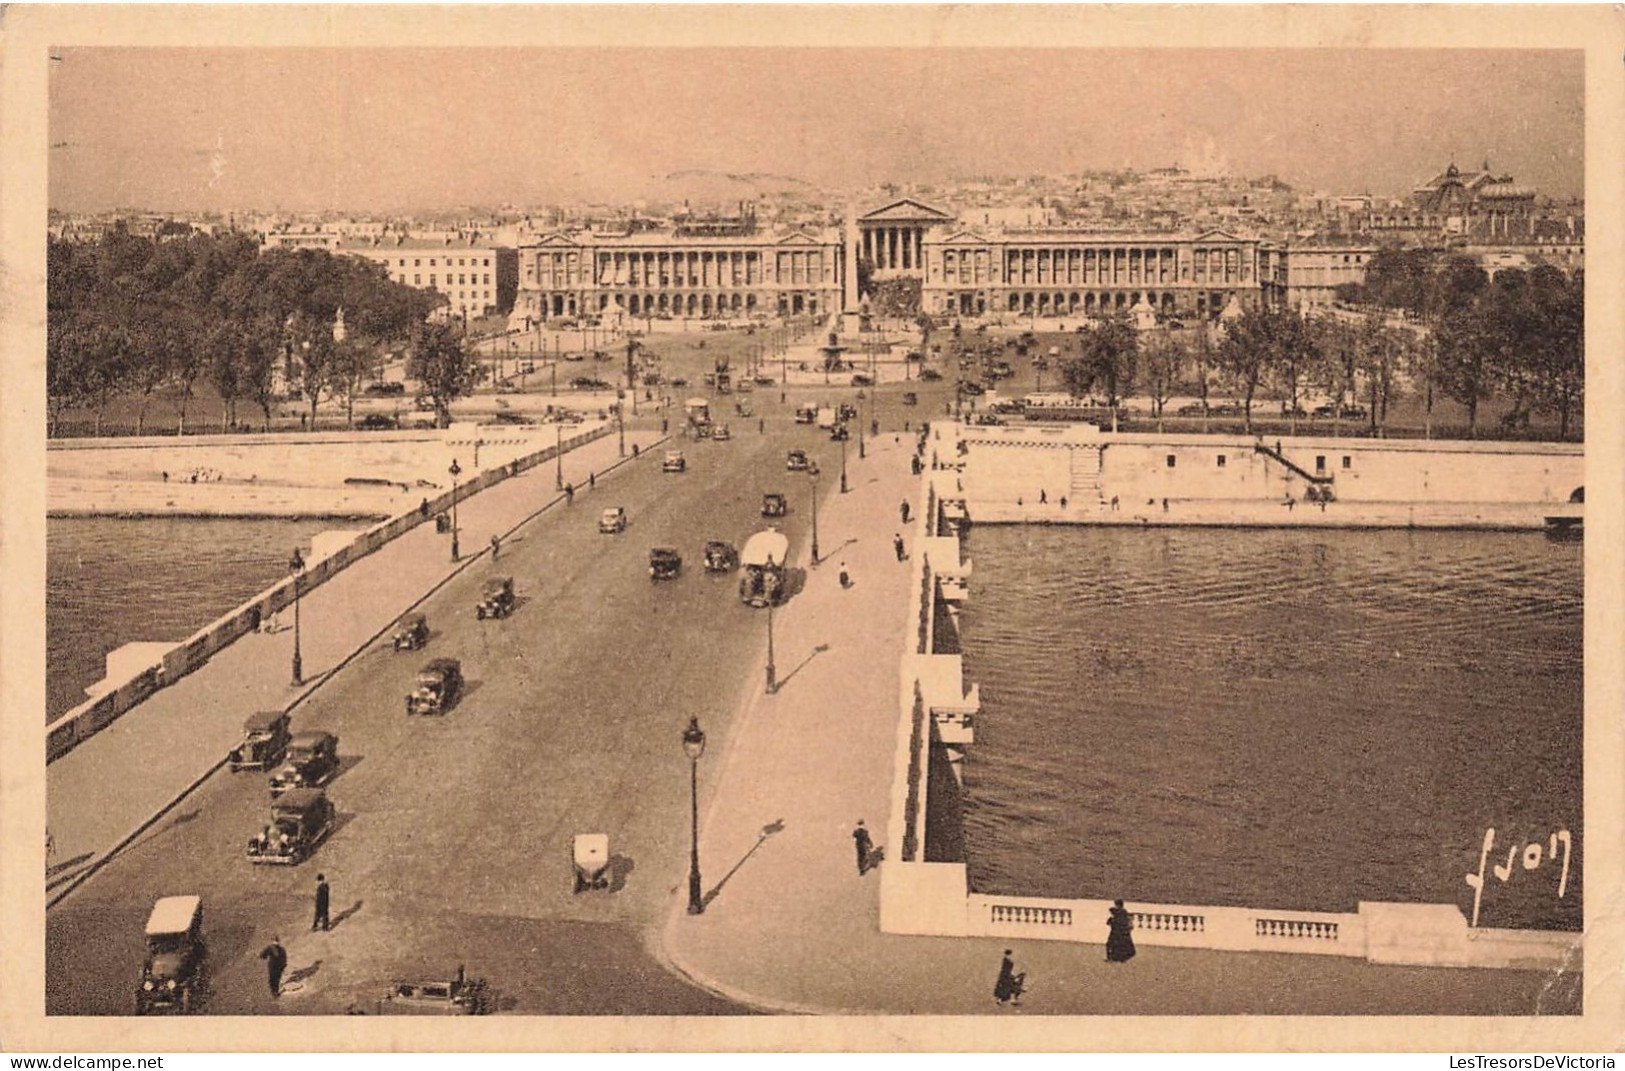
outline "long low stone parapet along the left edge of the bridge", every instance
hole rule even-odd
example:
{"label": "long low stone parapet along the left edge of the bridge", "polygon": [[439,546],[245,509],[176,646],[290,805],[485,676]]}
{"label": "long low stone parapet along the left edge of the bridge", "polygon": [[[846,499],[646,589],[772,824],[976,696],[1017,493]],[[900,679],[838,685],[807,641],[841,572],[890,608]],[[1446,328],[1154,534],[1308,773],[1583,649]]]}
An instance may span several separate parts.
{"label": "long low stone parapet along the left edge of the bridge", "polygon": [[[574,450],[578,445],[609,434],[609,431],[611,427],[600,426],[585,432],[577,432],[574,437],[564,440],[562,449],[566,452]],[[455,494],[460,501],[466,499],[468,496],[478,494],[479,491],[484,491],[509,476],[515,476],[536,465],[551,462],[556,453],[557,450],[554,444],[549,444],[543,450],[514,458],[505,465],[473,473],[468,481],[458,483]],[[361,561],[390,540],[411,531],[421,523],[427,523],[429,517],[450,509],[452,494],[453,492],[447,489],[431,497],[427,517],[424,517],[418,510],[418,504],[413,502],[405,512],[372,525],[351,543],[338,546],[330,554],[323,557],[315,557],[315,554],[312,554],[309,567],[297,580],[299,593],[309,593],[325,583],[330,577],[336,575],[340,570],[346,569],[351,562]],[[46,762],[55,762],[67,752],[73,751],[73,748],[80,743],[112,725],[112,722],[115,722],[120,715],[158,689],[174,684],[180,678],[187,676],[206,663],[216,652],[258,629],[265,618],[281,611],[292,603],[292,600],[294,579],[288,577],[249,598],[236,609],[216,618],[185,640],[169,647],[158,660],[148,666],[135,670],[127,679],[107,679],[104,683],[107,687],[106,692],[80,704],[46,726]]]}

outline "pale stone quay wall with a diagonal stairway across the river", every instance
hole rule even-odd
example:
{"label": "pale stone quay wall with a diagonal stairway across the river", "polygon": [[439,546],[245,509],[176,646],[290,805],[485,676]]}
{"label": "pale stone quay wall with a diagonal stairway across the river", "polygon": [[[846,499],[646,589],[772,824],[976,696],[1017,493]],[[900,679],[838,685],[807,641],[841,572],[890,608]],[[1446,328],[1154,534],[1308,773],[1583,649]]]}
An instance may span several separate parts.
{"label": "pale stone quay wall with a diagonal stairway across the river", "polygon": [[[938,426],[933,426],[934,432]],[[980,505],[1082,510],[1146,502],[1303,502],[1328,486],[1344,505],[1568,504],[1584,447],[1545,442],[1417,442],[1331,436],[1112,434],[1089,424],[946,426],[931,447],[964,463]],[[1321,478],[1321,479],[1316,479]],[[1346,510],[1347,512],[1347,510]],[[980,518],[980,517],[978,517]]]}

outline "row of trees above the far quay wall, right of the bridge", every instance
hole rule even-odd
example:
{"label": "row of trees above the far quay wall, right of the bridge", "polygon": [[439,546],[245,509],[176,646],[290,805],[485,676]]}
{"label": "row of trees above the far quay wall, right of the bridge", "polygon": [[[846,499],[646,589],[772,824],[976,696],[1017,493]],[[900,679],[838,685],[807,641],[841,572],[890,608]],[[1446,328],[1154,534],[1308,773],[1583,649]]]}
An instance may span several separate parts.
{"label": "row of trees above the far quay wall, right of the bridge", "polygon": [[[1584,280],[1555,268],[1503,270],[1493,281],[1471,258],[1425,250],[1380,254],[1362,288],[1341,297],[1362,314],[1303,317],[1254,307],[1207,330],[1139,333],[1124,315],[1079,338],[1063,361],[1074,395],[1103,395],[1116,408],[1131,393],[1150,398],[1160,419],[1175,393],[1206,405],[1212,385],[1242,400],[1248,431],[1259,393],[1284,400],[1295,421],[1311,392],[1342,410],[1365,403],[1372,431],[1388,421],[1406,385],[1424,401],[1432,434],[1435,395],[1467,410],[1479,434],[1480,405],[1503,398],[1502,424],[1528,427],[1531,413],[1558,418],[1568,437],[1584,406]],[[1396,320],[1404,310],[1406,320]]]}

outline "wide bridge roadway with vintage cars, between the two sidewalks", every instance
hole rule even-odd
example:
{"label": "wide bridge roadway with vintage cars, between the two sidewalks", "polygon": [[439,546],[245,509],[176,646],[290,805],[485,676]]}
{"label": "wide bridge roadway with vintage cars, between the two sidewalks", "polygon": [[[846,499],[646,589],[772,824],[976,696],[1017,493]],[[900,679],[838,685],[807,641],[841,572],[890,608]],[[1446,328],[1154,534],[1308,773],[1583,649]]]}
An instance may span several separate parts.
{"label": "wide bridge roadway with vintage cars, between the two sidewalks", "polygon": [[[457,964],[489,978],[500,1008],[517,1012],[743,1011],[647,949],[658,947],[658,923],[686,876],[679,735],[697,715],[720,749],[744,689],[760,687],[765,618],[739,605],[733,575],[704,574],[700,546],[759,530],[764,491],[790,494],[793,554],[808,536],[809,481],[786,475],[783,457],[808,445],[809,429],[793,427],[788,406],[765,392],[759,410],[765,434],[734,419],[733,442],[673,440],[687,473],[663,475],[661,450],[650,449],[596,491],[578,491],[574,505],[544,512],[502,544],[499,562],[486,551],[424,603],[426,650],[375,644],[296,710],[294,728],[335,731],[343,759],[328,788],[338,829],[314,858],[250,865],[244,842],[266,821],[265,777],[223,770],[73,891],[47,915],[47,1011],[128,1012],[145,913],[154,897],[182,892],[203,897],[214,1014],[370,1011],[392,978],[447,975]],[[822,442],[817,453],[829,492],[838,450]],[[538,497],[551,491],[551,473],[520,479],[546,481]],[[626,533],[596,531],[606,505],[627,507]],[[465,546],[479,549],[486,535],[470,512]],[[682,575],[653,583],[648,549],[668,543],[684,554]],[[476,621],[492,574],[515,577],[518,609]],[[354,598],[405,606],[416,593],[379,570]],[[444,718],[408,717],[403,696],[434,657],[460,658],[468,689]],[[195,702],[245,705],[242,694],[231,674],[216,674]],[[702,806],[707,767],[715,764],[702,764]],[[577,832],[609,834],[611,892],[572,895]],[[309,931],[318,871],[333,887],[330,933]],[[275,1001],[257,957],[273,933],[288,946],[292,982]]]}

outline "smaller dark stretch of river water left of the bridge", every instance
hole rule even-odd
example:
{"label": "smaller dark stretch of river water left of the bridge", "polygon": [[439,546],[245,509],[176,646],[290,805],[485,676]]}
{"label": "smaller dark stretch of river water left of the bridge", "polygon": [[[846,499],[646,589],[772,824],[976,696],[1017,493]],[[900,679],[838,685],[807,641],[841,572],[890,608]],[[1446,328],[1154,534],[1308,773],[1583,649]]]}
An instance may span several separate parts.
{"label": "smaller dark stretch of river water left of the bridge", "polygon": [[84,702],[107,652],[182,640],[288,575],[330,520],[50,518],[46,720]]}

